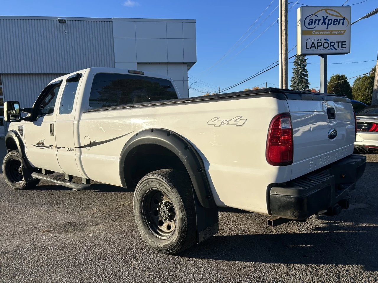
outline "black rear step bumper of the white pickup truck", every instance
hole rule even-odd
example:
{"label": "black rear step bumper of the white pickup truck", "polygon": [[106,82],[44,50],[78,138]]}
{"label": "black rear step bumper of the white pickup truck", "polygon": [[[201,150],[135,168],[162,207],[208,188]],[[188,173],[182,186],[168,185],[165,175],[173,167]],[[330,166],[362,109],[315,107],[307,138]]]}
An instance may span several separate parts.
{"label": "black rear step bumper of the white pickup truck", "polygon": [[345,198],[363,175],[366,157],[352,154],[327,169],[312,172],[270,189],[271,215],[304,220],[311,215],[335,208],[347,208]]}

